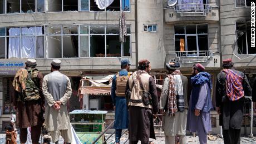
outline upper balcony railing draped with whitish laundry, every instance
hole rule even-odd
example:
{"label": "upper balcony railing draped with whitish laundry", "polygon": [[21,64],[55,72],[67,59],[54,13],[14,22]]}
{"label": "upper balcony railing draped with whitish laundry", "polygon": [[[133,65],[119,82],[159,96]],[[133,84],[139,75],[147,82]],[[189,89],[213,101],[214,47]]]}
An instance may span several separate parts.
{"label": "upper balcony railing draped with whitish laundry", "polygon": [[185,16],[206,16],[212,7],[217,7],[215,4],[203,4],[203,3],[184,3],[176,4],[173,7],[177,13],[180,13],[181,17]]}

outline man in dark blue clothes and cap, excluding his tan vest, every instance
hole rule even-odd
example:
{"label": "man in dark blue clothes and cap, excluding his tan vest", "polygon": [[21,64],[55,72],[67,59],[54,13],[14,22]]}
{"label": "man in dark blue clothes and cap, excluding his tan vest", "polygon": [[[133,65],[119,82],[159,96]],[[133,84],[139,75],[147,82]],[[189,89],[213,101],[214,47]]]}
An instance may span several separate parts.
{"label": "man in dark blue clothes and cap, excluding his tan vest", "polygon": [[[119,76],[128,76],[130,69],[129,59],[123,59],[121,61],[121,71],[113,77],[111,87],[111,98],[115,110],[115,123],[114,128],[116,129],[116,143],[119,144],[122,130],[127,129],[129,126],[128,121],[128,110],[126,105],[125,96],[116,95],[116,79]],[[126,84],[126,83],[125,83]],[[125,87],[124,87],[125,88]],[[124,90],[125,91],[125,90]]]}

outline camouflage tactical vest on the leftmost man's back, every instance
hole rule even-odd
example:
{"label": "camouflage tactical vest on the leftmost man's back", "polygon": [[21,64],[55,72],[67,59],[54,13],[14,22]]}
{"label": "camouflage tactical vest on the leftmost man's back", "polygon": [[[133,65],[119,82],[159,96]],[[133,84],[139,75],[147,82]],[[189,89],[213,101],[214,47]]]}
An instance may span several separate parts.
{"label": "camouflage tactical vest on the leftmost man's back", "polygon": [[26,79],[26,89],[22,92],[22,100],[23,101],[31,101],[40,99],[39,87],[40,83],[38,82],[38,70],[27,69],[28,76]]}

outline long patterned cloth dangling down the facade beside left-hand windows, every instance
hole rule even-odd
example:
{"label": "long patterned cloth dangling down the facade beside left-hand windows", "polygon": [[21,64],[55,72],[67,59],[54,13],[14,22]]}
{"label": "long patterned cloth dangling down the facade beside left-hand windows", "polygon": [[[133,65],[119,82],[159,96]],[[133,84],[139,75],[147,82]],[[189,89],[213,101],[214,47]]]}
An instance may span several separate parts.
{"label": "long patterned cloth dangling down the facade beside left-hand windows", "polygon": [[127,36],[125,12],[121,11],[119,18],[119,41],[125,42],[125,36]]}

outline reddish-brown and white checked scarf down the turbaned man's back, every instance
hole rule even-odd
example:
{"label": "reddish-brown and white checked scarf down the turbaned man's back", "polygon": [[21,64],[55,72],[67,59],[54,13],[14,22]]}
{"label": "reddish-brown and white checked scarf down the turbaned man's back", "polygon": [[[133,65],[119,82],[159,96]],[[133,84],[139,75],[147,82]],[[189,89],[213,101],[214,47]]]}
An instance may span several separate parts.
{"label": "reddish-brown and white checked scarf down the turbaned man's back", "polygon": [[173,73],[171,73],[171,75],[168,75],[168,78],[169,78],[168,116],[175,116],[175,113],[178,112],[174,75],[181,75],[180,70],[175,70]]}

